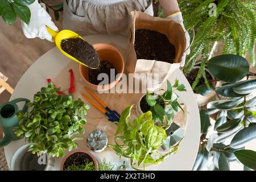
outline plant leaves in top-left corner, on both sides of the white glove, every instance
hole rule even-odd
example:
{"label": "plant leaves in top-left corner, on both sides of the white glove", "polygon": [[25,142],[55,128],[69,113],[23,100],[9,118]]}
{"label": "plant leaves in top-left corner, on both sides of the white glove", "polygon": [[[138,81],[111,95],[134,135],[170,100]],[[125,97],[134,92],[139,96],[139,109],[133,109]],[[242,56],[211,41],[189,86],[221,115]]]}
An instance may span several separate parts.
{"label": "plant leaves in top-left corner, on both sides of the white glove", "polygon": [[[29,24],[31,18],[30,9],[27,7],[38,0],[0,0],[0,16],[7,24],[13,24],[18,16],[23,22]],[[52,0],[39,0],[46,5],[46,11],[49,9],[54,12],[55,19],[59,20],[59,12],[63,11],[63,1],[55,5],[49,4]]]}

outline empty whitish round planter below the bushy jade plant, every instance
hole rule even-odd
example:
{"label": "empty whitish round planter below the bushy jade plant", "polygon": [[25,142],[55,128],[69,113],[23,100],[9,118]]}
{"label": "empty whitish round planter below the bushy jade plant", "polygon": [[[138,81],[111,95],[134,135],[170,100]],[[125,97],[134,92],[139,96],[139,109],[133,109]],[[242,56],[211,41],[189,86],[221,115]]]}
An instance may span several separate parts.
{"label": "empty whitish round planter below the bushy jade plant", "polygon": [[43,154],[38,158],[36,154],[28,152],[28,144],[18,148],[10,162],[11,171],[52,171],[55,160]]}

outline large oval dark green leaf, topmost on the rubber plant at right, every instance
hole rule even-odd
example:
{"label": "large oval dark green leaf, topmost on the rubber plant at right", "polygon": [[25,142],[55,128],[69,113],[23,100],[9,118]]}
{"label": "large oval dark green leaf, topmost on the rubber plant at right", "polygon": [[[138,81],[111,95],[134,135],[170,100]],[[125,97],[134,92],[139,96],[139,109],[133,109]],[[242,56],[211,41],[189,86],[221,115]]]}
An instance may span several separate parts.
{"label": "large oval dark green leaf, topmost on the rubber plant at right", "polygon": [[237,82],[249,73],[247,60],[238,55],[220,55],[208,61],[210,73],[221,81]]}

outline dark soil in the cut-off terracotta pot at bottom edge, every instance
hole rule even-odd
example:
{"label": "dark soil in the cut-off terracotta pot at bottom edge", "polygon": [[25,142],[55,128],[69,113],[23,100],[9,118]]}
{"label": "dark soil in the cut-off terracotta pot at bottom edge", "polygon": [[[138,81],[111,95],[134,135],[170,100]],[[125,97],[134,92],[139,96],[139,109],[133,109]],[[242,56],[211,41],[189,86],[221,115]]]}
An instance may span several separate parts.
{"label": "dark soil in the cut-off terracotta pot at bottom edge", "polygon": [[70,155],[64,162],[63,170],[67,170],[69,167],[75,166],[82,166],[82,164],[93,162],[93,159],[84,152],[76,152]]}

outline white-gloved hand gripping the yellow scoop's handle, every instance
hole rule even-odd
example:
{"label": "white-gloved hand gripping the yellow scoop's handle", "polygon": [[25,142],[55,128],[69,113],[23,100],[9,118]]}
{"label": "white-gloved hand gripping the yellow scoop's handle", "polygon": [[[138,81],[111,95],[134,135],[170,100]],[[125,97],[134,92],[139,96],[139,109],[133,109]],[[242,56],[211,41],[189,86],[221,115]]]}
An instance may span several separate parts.
{"label": "white-gloved hand gripping the yellow scoop's handle", "polygon": [[59,31],[55,24],[52,22],[51,16],[38,3],[38,0],[36,0],[31,5],[28,5],[28,8],[31,12],[30,23],[26,24],[21,21],[24,35],[29,39],[38,37],[40,39],[47,39],[51,42],[54,42],[51,34],[49,34],[46,28],[47,26],[54,31]]}

